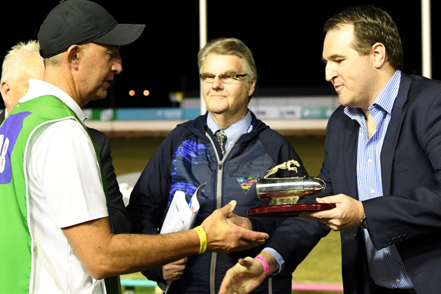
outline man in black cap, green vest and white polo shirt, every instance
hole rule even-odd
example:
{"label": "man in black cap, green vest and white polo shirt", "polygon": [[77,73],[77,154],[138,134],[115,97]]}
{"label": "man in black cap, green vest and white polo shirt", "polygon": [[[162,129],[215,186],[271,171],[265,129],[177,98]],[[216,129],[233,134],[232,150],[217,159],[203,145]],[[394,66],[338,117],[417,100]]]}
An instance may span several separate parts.
{"label": "man in black cap, green vest and white polo shirt", "polygon": [[41,25],[43,81],[30,80],[0,127],[0,293],[105,293],[103,277],[243,250],[268,237],[227,222],[234,201],[190,231],[112,234],[81,107],[105,98],[122,71],[120,46],[143,29],[85,0],[61,2]]}

